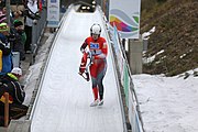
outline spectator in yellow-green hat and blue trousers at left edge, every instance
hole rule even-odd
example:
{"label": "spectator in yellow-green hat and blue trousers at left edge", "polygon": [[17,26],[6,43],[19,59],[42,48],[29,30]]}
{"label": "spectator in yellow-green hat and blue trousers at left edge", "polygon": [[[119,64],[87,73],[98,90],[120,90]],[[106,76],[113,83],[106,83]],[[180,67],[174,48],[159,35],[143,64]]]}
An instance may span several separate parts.
{"label": "spectator in yellow-green hat and blue trousers at left edge", "polygon": [[12,56],[9,42],[9,26],[7,23],[0,23],[0,50],[2,51],[2,70],[0,75],[10,73],[12,69]]}

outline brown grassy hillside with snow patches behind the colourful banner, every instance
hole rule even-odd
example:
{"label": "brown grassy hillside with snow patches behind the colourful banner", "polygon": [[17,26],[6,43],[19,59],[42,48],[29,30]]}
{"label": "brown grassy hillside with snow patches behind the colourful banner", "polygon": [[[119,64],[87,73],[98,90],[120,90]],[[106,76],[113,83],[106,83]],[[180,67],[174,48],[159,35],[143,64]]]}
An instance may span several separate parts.
{"label": "brown grassy hillside with snow patches behind the colourful banner", "polygon": [[141,34],[155,26],[143,73],[174,76],[198,67],[198,1],[142,0]]}

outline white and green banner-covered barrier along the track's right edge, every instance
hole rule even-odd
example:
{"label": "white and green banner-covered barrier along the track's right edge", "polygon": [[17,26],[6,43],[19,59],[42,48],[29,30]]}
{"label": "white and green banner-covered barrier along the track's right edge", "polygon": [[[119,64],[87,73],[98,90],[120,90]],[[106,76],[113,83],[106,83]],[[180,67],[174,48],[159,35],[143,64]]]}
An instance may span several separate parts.
{"label": "white and green banner-covered barrier along the track's right edge", "polygon": [[110,29],[110,24],[105,13],[103,13],[103,20],[106,22],[107,29],[109,30],[109,37],[112,40],[110,46],[112,47],[114,62],[117,65],[117,73],[121,86],[120,91],[121,92],[123,91],[122,98],[123,98],[123,103],[125,105],[124,106],[125,120],[129,120],[131,127],[130,128],[128,125],[128,130],[132,132],[144,132],[139,101],[134,90],[134,85],[131,76],[130,66],[127,59],[127,55],[121,44],[120,35],[116,26],[113,28],[113,30]]}

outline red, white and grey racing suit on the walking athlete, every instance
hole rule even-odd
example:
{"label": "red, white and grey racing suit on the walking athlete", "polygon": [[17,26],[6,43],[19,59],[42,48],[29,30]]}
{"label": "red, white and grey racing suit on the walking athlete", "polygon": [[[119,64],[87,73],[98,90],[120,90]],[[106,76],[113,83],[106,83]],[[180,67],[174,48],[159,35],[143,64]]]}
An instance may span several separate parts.
{"label": "red, white and grey racing suit on the walking athlete", "polygon": [[[87,37],[81,45],[80,50],[84,51],[86,47],[90,50],[92,56],[92,64],[89,67],[91,81],[92,81],[92,92],[95,96],[95,100],[98,99],[98,90],[100,100],[103,99],[103,77],[107,72],[107,54],[108,54],[108,45],[103,37],[98,37],[98,40],[94,40],[91,36]],[[87,63],[88,54],[85,53],[81,58],[80,67],[84,70]],[[80,69],[80,70],[81,70]],[[81,72],[82,72],[81,70]]]}

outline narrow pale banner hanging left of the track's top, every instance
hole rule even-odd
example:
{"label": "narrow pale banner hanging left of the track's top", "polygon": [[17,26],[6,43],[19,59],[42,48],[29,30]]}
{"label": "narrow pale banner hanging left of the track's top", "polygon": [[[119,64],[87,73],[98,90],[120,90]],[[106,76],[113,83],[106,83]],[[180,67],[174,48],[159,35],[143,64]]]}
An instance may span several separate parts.
{"label": "narrow pale banner hanging left of the track's top", "polygon": [[47,1],[47,26],[59,26],[59,0]]}

